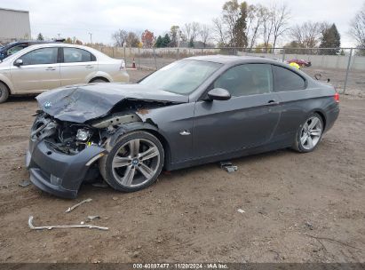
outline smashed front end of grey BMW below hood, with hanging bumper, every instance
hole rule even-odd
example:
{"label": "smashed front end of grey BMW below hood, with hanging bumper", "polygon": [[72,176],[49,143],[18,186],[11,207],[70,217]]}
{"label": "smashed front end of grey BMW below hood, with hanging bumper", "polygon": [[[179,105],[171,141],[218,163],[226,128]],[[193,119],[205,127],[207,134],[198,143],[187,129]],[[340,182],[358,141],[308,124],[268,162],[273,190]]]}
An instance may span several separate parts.
{"label": "smashed front end of grey BMW below hood, with hanging bumper", "polygon": [[96,163],[107,155],[107,144],[123,123],[141,121],[135,114],[113,114],[90,123],[70,123],[43,111],[32,126],[27,167],[36,187],[75,198],[85,180],[99,176]]}

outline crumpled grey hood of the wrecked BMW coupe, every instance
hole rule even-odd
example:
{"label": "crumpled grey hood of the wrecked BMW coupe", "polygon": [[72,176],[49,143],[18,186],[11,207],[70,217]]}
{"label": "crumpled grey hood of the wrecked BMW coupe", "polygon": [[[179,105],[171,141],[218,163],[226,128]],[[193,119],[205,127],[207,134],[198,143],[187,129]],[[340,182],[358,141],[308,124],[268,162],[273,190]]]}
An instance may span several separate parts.
{"label": "crumpled grey hood of the wrecked BMW coupe", "polygon": [[123,99],[186,103],[188,97],[151,90],[140,84],[91,83],[46,91],[36,97],[39,107],[61,121],[84,123],[107,115]]}

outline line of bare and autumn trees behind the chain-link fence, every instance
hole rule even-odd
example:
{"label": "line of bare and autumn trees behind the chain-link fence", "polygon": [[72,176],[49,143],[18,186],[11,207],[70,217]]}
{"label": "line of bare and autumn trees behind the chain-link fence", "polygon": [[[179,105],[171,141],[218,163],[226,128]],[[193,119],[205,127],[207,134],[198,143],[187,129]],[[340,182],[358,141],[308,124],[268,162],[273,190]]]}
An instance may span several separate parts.
{"label": "line of bare and autumn trees behind the chain-link fence", "polygon": [[[341,36],[336,24],[328,21],[305,21],[290,24],[295,15],[287,4],[248,4],[238,0],[226,1],[218,17],[211,25],[196,21],[182,26],[172,25],[162,36],[146,29],[143,32],[118,29],[112,40],[118,47],[240,47],[255,52],[272,52],[278,42],[288,53],[303,52],[307,48],[334,48],[319,50],[325,54],[339,54]],[[350,23],[349,35],[358,47],[365,47],[365,2]],[[39,34],[38,39],[43,39]],[[67,43],[82,44],[77,38],[67,38]],[[281,43],[282,44],[282,43]],[[287,51],[288,50],[288,51]]]}

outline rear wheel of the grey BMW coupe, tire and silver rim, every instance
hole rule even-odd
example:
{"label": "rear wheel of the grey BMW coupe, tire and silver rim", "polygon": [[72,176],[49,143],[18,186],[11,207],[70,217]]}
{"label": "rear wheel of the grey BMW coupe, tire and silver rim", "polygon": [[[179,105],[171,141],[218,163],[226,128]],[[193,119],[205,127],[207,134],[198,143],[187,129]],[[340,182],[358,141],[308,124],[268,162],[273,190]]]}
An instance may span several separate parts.
{"label": "rear wheel of the grey BMW coupe, tire and silver rim", "polygon": [[323,127],[321,115],[314,113],[307,117],[298,128],[292,148],[300,153],[312,152],[321,142]]}

